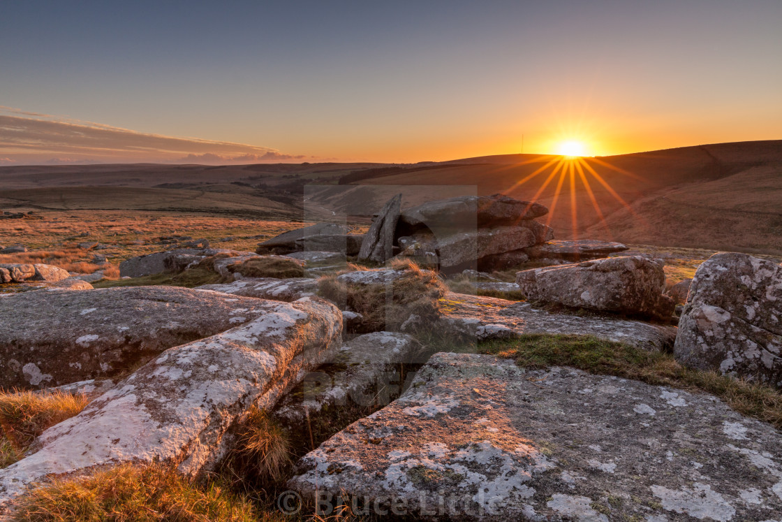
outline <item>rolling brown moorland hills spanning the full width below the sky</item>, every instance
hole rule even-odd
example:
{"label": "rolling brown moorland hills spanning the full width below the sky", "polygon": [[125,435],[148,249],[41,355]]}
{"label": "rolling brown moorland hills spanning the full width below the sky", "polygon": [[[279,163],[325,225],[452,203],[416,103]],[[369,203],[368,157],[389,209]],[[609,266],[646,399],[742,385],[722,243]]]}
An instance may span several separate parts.
{"label": "rolling brown moorland hills spanning the full width below the sky", "polygon": [[552,175],[560,160],[506,154],[421,164],[0,167],[0,209],[355,218],[400,192],[404,207],[502,192],[551,208],[543,220],[561,239],[782,254],[782,141],[584,158]]}

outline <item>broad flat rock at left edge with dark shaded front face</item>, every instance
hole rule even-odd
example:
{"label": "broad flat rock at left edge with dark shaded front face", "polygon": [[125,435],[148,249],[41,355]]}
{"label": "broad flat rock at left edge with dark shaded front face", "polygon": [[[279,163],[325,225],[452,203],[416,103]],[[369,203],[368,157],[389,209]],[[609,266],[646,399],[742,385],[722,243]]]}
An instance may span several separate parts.
{"label": "broad flat rock at left edge with dark shaded front face", "polygon": [[268,307],[251,297],[176,286],[16,293],[0,301],[0,387],[113,376],[169,347],[256,319]]}

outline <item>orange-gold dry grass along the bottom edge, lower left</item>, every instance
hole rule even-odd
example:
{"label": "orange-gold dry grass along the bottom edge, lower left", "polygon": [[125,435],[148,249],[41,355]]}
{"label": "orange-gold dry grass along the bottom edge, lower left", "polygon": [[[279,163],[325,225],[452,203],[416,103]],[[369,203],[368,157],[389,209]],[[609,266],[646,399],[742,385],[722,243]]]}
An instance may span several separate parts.
{"label": "orange-gold dry grass along the bottom edge, lower left", "polygon": [[16,500],[10,520],[251,522],[260,519],[250,502],[217,484],[199,486],[160,465],[124,464],[90,477],[55,479],[50,484],[40,484]]}

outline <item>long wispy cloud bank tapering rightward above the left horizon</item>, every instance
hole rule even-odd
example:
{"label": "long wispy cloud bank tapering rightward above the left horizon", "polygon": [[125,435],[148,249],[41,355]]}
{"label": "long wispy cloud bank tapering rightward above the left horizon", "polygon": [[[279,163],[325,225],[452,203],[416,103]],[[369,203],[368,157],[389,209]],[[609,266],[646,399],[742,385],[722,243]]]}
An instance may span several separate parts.
{"label": "long wispy cloud bank tapering rightward above the left horizon", "polygon": [[301,160],[268,147],[131,131],[0,106],[0,164]]}

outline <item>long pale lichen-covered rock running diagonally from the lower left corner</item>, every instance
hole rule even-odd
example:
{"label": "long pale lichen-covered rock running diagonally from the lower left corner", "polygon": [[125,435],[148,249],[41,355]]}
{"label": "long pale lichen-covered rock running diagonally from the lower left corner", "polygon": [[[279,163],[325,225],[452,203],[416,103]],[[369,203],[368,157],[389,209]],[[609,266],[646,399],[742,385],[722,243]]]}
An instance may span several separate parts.
{"label": "long pale lichen-covered rock running diagonally from the lower left corner", "polygon": [[251,405],[271,410],[339,347],[342,318],[327,301],[260,301],[245,325],[170,348],[49,428],[36,452],[0,470],[0,509],[28,485],[118,463],[210,469]]}

